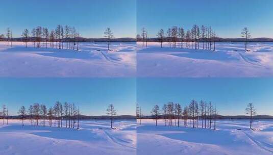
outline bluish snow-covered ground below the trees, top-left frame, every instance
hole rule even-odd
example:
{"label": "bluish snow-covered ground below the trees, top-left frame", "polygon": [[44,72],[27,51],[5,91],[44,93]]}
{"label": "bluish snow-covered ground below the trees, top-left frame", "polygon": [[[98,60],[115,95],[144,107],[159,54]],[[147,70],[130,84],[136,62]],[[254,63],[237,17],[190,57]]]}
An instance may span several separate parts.
{"label": "bluish snow-covered ground below the trees, top-left frame", "polygon": [[[41,43],[42,44],[42,43]],[[34,48],[0,42],[0,77],[134,77],[136,43],[83,42],[80,50]],[[48,44],[49,46],[49,44]],[[77,47],[77,46],[76,46]],[[66,44],[64,43],[64,48]]]}

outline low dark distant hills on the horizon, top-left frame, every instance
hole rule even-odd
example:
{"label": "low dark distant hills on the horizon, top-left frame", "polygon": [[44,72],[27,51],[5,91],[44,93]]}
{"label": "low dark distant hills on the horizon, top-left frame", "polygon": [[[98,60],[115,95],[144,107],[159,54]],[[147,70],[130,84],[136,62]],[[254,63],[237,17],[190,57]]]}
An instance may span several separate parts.
{"label": "low dark distant hills on the horizon, top-left frame", "polygon": [[[36,38],[35,37],[31,37],[29,38],[29,41],[34,41]],[[64,39],[60,39],[62,41],[68,41],[68,39],[64,38]],[[83,38],[83,37],[79,37],[76,38],[76,40],[80,41],[80,42],[106,42],[108,41],[107,38]],[[135,42],[136,39],[135,38],[112,38],[110,39],[112,42]],[[1,39],[0,41],[6,41],[6,38]],[[12,41],[23,41],[23,38],[12,38]],[[59,41],[59,40],[57,40]]]}

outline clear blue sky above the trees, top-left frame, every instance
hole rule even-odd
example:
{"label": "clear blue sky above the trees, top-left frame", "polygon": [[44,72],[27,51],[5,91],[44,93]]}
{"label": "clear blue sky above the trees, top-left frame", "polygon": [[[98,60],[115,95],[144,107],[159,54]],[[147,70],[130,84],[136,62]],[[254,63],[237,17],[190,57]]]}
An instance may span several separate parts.
{"label": "clear blue sky above the trees, top-left frame", "polygon": [[0,2],[0,34],[8,27],[14,37],[40,25],[77,28],[82,37],[102,38],[107,27],[115,38],[136,36],[136,0],[12,0]]}

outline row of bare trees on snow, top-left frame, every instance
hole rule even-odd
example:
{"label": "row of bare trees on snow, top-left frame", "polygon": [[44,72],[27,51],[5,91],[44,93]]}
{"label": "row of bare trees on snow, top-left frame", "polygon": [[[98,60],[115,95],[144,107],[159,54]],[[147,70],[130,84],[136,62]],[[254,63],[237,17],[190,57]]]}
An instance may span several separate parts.
{"label": "row of bare trees on snow, top-left frame", "polygon": [[[28,47],[28,42],[33,41],[34,47],[37,48],[47,48],[49,43],[51,48],[79,50],[79,42],[81,41],[81,35],[75,27],[69,25],[63,27],[60,24],[57,25],[55,30],[51,31],[40,26],[33,28],[31,32],[24,29],[21,36],[26,47]],[[110,28],[106,28],[104,37],[107,38],[108,50],[110,50],[111,39],[114,37]],[[4,38],[5,35],[0,35],[0,41]],[[8,46],[12,46],[12,31],[10,28],[7,29],[5,40]]]}

